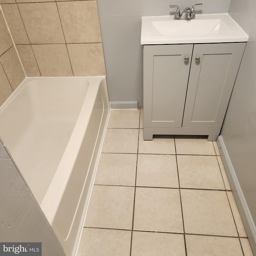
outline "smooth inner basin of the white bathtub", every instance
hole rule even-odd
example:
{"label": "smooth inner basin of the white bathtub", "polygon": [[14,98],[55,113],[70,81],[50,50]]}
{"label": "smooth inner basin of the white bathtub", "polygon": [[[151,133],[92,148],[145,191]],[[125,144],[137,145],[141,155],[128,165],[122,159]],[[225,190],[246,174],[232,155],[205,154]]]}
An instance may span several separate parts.
{"label": "smooth inner basin of the white bathtub", "polygon": [[[87,81],[33,80],[20,86],[1,113],[0,134],[41,204],[76,124]],[[2,108],[1,108],[2,109]],[[9,113],[12,113],[10,116]]]}

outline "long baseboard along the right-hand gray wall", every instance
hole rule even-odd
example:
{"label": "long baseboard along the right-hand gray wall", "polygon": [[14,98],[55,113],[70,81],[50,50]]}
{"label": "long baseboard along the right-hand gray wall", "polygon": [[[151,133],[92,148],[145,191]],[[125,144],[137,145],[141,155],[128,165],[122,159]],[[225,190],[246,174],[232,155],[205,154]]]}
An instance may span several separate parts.
{"label": "long baseboard along the right-hand gray wall", "polygon": [[232,165],[230,156],[228,154],[228,150],[225,146],[224,140],[222,136],[218,137],[217,145],[220,151],[220,156],[224,165],[224,168],[226,170],[226,174],[228,176],[228,181],[230,183],[230,187],[232,189],[232,192],[234,194],[234,198],[236,200],[236,205],[238,207],[238,210],[240,212],[244,228],[246,230],[247,236],[250,241],[250,245],[252,247],[252,251],[254,252],[254,255],[256,255],[256,227],[254,220],[252,218],[252,215],[250,213],[250,210],[248,208],[248,204],[246,202],[246,199],[244,197],[244,193],[242,192],[242,188],[239,184],[239,180],[236,176],[236,172],[234,170],[234,167]]}

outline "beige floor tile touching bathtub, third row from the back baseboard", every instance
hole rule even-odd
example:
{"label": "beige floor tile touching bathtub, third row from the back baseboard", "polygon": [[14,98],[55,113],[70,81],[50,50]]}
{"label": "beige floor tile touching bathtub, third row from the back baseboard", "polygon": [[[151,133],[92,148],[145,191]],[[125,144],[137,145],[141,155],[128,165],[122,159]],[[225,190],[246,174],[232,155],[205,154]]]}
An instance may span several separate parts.
{"label": "beige floor tile touching bathtub, third row from the back baseboard", "polygon": [[135,186],[137,154],[102,153],[94,184]]}

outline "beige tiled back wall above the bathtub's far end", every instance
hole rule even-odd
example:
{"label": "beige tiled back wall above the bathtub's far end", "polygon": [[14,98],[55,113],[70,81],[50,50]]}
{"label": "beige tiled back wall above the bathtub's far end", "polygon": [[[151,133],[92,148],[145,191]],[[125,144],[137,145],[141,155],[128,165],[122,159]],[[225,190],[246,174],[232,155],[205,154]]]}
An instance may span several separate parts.
{"label": "beige tiled back wall above the bathtub's far end", "polygon": [[96,0],[0,0],[27,76],[106,75]]}

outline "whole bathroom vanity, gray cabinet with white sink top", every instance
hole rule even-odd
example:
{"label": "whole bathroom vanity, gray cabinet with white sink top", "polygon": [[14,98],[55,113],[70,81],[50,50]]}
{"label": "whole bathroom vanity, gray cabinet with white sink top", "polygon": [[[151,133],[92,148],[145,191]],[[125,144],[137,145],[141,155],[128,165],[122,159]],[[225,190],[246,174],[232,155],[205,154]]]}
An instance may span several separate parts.
{"label": "whole bathroom vanity, gray cabinet with white sink top", "polygon": [[142,17],[144,140],[154,134],[217,140],[248,36],[236,23],[240,34],[232,31],[228,14],[212,15],[196,16],[202,23]]}

